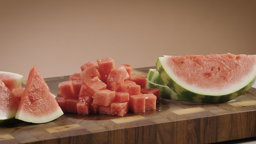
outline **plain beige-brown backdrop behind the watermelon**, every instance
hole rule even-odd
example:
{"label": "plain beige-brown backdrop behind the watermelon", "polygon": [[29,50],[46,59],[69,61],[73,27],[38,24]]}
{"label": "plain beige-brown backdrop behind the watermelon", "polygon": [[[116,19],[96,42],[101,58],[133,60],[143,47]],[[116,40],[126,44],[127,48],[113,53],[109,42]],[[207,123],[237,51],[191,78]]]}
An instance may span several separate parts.
{"label": "plain beige-brown backdrop behind the watermelon", "polygon": [[256,0],[0,0],[0,71],[71,75],[97,58],[256,54]]}

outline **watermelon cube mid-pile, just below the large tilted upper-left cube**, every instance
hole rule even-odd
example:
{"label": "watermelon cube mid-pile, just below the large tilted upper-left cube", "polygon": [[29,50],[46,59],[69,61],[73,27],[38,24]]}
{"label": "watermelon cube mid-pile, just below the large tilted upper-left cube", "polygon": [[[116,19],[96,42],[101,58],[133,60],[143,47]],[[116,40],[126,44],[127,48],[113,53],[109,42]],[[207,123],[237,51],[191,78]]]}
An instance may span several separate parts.
{"label": "watermelon cube mid-pile, just below the large tilted upper-left cube", "polygon": [[107,85],[101,80],[86,83],[86,89],[91,95],[94,95],[94,93],[99,90],[105,90],[106,88],[107,88]]}

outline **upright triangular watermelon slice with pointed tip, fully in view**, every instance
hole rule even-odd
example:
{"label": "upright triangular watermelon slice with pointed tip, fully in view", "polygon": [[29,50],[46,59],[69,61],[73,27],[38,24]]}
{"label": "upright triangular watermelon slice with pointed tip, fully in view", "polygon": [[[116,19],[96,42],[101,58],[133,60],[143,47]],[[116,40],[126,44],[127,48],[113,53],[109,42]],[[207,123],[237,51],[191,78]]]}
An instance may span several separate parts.
{"label": "upright triangular watermelon slice with pointed tip, fully in view", "polygon": [[41,73],[34,66],[29,72],[15,118],[40,124],[53,121],[63,114]]}

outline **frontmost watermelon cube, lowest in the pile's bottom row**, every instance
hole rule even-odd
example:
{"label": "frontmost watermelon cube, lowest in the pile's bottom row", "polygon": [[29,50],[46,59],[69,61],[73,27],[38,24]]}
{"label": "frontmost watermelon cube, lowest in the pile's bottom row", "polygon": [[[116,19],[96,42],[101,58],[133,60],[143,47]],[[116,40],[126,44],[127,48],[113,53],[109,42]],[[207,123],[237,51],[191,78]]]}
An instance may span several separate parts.
{"label": "frontmost watermelon cube, lowest in the pile's bottom row", "polygon": [[129,110],[129,105],[128,102],[114,102],[111,103],[110,106],[110,114],[111,115],[121,115],[124,116],[125,114],[128,113]]}

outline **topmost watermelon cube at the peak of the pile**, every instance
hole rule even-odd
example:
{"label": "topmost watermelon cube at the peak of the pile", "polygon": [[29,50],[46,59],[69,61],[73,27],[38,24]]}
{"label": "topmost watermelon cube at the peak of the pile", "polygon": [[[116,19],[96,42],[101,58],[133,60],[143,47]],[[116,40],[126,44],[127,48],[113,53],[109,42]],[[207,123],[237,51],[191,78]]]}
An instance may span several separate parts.
{"label": "topmost watermelon cube at the peak of the pile", "polygon": [[115,68],[114,60],[112,58],[97,59],[99,66],[99,73],[101,75],[102,82],[106,82],[109,72]]}

